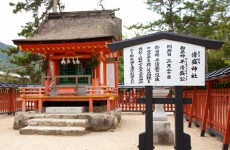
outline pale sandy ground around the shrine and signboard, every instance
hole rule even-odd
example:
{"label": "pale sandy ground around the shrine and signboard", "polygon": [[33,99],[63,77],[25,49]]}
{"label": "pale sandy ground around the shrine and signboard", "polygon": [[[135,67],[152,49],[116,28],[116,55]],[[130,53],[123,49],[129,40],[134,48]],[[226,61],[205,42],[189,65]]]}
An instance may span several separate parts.
{"label": "pale sandy ground around the shrine and signboard", "polygon": [[[174,131],[174,118],[169,117]],[[138,150],[138,136],[144,131],[144,115],[123,113],[116,130],[91,132],[79,137],[20,135],[13,130],[13,116],[0,116],[0,150]],[[217,138],[200,137],[200,130],[192,126],[185,132],[191,135],[193,150],[220,150],[222,142]],[[173,146],[155,145],[155,150],[174,150]]]}

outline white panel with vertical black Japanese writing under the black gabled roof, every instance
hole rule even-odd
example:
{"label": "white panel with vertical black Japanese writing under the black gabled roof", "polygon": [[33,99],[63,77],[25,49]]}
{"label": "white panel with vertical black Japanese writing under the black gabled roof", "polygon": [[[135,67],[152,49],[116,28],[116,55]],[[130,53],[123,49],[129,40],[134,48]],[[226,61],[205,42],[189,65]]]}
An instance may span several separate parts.
{"label": "white panel with vertical black Japanese writing under the black gabled roof", "polygon": [[124,80],[129,86],[204,85],[205,48],[158,40],[124,49]]}

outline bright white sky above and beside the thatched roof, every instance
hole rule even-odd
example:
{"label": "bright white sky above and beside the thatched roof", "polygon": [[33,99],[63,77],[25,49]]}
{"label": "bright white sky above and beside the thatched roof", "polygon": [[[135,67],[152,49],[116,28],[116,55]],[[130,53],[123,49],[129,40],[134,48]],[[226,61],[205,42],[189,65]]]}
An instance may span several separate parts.
{"label": "bright white sky above and beside the thatched roof", "polygon": [[[9,6],[9,2],[18,2],[23,0],[1,0],[0,1],[0,42],[14,45],[13,39],[23,39],[19,37],[18,32],[21,26],[26,22],[32,21],[32,13],[13,14],[13,7]],[[66,11],[87,11],[99,9],[97,3],[99,0],[62,0],[65,4]],[[125,26],[133,25],[137,22],[146,23],[156,19],[156,14],[147,9],[144,3],[147,0],[104,0],[102,3],[105,9],[120,8],[115,15],[122,19],[123,35],[131,37],[134,32],[128,31]]]}

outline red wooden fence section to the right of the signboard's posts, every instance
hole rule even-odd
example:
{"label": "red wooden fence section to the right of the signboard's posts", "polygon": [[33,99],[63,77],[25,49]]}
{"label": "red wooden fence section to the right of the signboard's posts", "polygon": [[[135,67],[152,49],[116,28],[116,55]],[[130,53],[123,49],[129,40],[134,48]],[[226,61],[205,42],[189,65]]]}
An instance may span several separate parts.
{"label": "red wooden fence section to the right of the signboard's posts", "polygon": [[184,97],[192,98],[193,103],[184,106],[184,115],[210,135],[223,138],[223,146],[230,143],[230,82],[207,82],[205,87],[189,87]]}

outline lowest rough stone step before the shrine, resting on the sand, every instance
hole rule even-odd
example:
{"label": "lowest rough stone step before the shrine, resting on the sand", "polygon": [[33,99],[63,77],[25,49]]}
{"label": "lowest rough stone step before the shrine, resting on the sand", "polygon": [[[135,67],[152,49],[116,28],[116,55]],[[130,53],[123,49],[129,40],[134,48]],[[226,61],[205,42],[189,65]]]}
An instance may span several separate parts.
{"label": "lowest rough stone step before the shrine, resting on the sand", "polygon": [[86,133],[83,127],[27,126],[19,130],[24,135],[65,135],[81,136]]}

